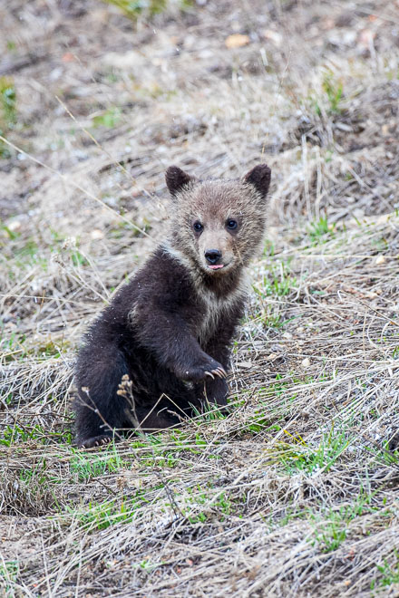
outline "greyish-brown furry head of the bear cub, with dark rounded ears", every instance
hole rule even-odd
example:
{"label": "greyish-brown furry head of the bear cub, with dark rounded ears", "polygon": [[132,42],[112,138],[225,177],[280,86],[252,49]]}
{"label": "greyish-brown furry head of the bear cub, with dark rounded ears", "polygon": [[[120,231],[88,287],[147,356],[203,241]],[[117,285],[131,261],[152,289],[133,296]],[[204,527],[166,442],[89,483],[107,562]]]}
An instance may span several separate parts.
{"label": "greyish-brown furry head of the bear cub, with dark rounded ears", "polygon": [[257,252],[265,232],[270,169],[243,178],[199,180],[177,166],[166,171],[170,245],[211,276],[232,272]]}

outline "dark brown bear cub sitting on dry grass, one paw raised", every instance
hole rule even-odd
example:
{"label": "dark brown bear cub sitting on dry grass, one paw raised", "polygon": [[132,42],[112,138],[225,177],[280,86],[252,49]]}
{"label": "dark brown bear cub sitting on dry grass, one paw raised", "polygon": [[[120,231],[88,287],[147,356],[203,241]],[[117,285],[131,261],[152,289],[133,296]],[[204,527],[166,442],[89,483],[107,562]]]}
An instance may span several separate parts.
{"label": "dark brown bear cub sitting on dry grass, one paw raised", "polygon": [[199,180],[171,166],[166,182],[168,240],[92,324],[78,355],[83,448],[115,430],[178,425],[207,400],[227,404],[229,343],[243,313],[246,266],[265,231],[270,169]]}

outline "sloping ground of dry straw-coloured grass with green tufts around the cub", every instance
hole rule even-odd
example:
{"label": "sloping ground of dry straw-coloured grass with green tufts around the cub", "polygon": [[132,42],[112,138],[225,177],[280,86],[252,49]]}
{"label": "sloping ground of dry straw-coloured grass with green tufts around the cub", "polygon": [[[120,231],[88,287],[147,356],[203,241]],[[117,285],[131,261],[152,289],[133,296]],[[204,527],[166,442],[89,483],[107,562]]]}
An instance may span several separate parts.
{"label": "sloping ground of dry straw-coloured grass with green tufts around the cub", "polygon": [[[398,8],[0,7],[5,595],[399,594]],[[77,451],[75,349],[165,234],[164,169],[259,161],[231,414]]]}

